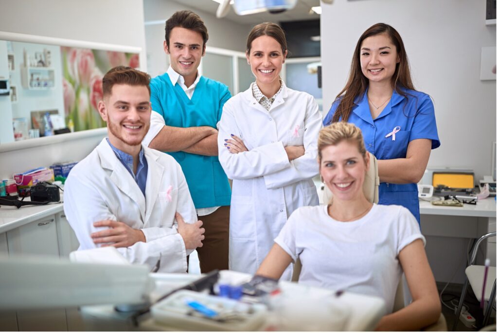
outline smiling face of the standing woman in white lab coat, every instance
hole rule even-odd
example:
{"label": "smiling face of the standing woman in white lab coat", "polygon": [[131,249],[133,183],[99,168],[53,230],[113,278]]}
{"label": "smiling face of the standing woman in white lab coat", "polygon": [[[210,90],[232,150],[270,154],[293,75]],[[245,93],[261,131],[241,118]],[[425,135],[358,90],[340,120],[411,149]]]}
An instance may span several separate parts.
{"label": "smiling face of the standing woman in white lab coat", "polygon": [[286,56],[287,51],[282,53],[282,46],[273,37],[263,35],[252,41],[246,58],[260,89],[262,86],[280,87],[280,71]]}

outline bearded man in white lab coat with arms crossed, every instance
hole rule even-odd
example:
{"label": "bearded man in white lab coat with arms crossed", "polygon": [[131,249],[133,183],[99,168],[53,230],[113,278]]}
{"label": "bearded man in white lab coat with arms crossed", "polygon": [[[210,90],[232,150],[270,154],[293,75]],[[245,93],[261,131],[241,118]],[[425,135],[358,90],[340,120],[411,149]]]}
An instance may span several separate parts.
{"label": "bearded man in white lab coat with arms crossed", "polygon": [[109,137],[71,170],[64,213],[80,250],[115,246],[131,263],[186,272],[204,228],[179,164],[141,145],[150,125],[149,80],[123,66],[104,76],[98,109]]}

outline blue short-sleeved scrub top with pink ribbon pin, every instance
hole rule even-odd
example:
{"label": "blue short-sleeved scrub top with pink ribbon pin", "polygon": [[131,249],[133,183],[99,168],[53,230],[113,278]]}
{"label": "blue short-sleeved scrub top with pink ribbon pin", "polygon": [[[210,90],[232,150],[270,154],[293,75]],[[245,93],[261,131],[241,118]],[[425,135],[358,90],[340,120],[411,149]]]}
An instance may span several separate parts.
{"label": "blue short-sleeved scrub top with pink ribbon pin", "polygon": [[[434,105],[429,95],[414,90],[401,90],[406,94],[406,98],[394,90],[391,100],[375,119],[370,112],[366,91],[356,99],[356,106],[353,106],[348,119],[348,122],[354,123],[362,130],[365,147],[379,160],[406,158],[408,143],[415,139],[432,140],[431,149],[441,145]],[[324,126],[332,122],[340,101],[337,99],[332,104],[323,121]],[[392,140],[392,136],[385,137],[396,126],[400,129],[395,134],[395,140]],[[404,206],[420,224],[417,184],[380,183],[378,192],[379,204]]]}

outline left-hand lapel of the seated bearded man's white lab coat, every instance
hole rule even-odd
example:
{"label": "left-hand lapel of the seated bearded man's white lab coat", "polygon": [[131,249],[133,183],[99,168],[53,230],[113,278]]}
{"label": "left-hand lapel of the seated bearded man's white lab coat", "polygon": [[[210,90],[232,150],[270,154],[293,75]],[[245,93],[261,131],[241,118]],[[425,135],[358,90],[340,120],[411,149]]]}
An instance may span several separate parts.
{"label": "left-hand lapel of the seated bearded man's white lab coat", "polygon": [[[116,157],[113,149],[107,142],[106,138],[97,146],[100,163],[104,169],[111,171],[111,180],[123,192],[124,195],[130,197],[140,209],[140,217],[145,222],[145,198],[142,191],[136,184],[135,180],[126,170],[123,163]],[[147,161],[148,162],[148,161]],[[147,175],[147,178],[149,176]],[[146,193],[146,192],[145,192]]]}

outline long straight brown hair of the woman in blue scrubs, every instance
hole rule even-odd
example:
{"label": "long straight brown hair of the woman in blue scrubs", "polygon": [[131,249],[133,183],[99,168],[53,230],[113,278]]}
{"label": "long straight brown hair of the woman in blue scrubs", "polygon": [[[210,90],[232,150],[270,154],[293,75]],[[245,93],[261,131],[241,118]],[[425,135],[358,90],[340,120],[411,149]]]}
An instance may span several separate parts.
{"label": "long straight brown hair of the woman in blue scrubs", "polygon": [[339,106],[337,107],[334,116],[332,117],[332,122],[339,121],[342,119],[347,121],[353,110],[355,100],[358,96],[365,94],[369,86],[369,80],[363,75],[362,67],[360,64],[360,48],[362,47],[363,41],[371,36],[375,36],[381,33],[387,34],[391,39],[392,44],[396,46],[396,52],[399,57],[399,62],[396,64],[396,69],[391,78],[391,84],[396,90],[396,93],[406,97],[406,93],[401,90],[410,89],[415,90],[413,83],[411,81],[410,75],[410,65],[408,63],[408,56],[404,48],[403,40],[399,33],[389,24],[377,23],[368,28],[358,40],[356,44],[355,53],[353,54],[353,60],[351,61],[351,69],[349,72],[348,82],[343,90],[337,95],[336,101],[341,99]]}

